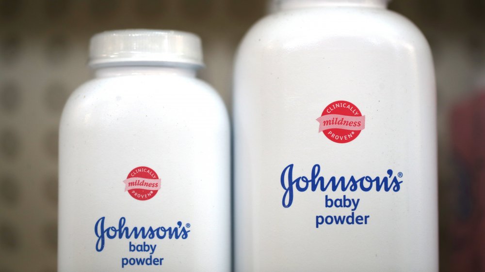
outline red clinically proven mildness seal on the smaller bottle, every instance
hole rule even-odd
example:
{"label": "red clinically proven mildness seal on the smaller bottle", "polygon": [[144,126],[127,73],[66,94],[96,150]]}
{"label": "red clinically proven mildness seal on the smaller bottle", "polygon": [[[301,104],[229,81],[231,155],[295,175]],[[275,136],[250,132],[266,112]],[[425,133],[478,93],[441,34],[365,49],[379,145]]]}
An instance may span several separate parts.
{"label": "red clinically proven mildness seal on the smaller bottle", "polygon": [[146,166],[131,170],[125,181],[125,192],[138,200],[148,200],[160,190],[161,180],[157,173]]}

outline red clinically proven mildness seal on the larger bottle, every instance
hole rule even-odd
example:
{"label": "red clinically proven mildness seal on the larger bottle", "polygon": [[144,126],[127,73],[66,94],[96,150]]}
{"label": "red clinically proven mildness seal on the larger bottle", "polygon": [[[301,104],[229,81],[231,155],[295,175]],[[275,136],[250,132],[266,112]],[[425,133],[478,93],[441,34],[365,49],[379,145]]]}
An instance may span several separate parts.
{"label": "red clinically proven mildness seal on the larger bottle", "polygon": [[365,128],[365,116],[348,101],[336,101],[326,106],[317,121],[320,123],[319,132],[340,144],[355,140]]}

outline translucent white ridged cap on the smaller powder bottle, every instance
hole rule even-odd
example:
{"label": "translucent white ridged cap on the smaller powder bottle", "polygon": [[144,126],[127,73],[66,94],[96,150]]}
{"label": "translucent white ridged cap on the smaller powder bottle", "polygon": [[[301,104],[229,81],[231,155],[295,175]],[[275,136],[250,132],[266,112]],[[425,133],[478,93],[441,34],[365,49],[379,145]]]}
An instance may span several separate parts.
{"label": "translucent white ridged cap on the smaller powder bottle", "polygon": [[200,37],[174,30],[113,30],[94,35],[89,49],[89,65],[188,65],[200,68]]}

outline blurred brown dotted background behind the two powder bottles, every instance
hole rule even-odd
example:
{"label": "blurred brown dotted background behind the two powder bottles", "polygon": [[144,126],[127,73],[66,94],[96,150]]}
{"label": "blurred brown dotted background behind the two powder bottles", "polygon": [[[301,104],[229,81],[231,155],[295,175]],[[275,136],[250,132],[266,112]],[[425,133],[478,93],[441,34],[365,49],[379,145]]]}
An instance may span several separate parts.
{"label": "blurred brown dotted background behind the two powder bottles", "polygon": [[[207,64],[200,76],[230,109],[235,48],[266,8],[264,0],[0,0],[0,272],[56,270],[58,122],[68,95],[91,76],[86,60],[94,33],[200,34]],[[456,103],[477,95],[477,82],[485,83],[485,1],[395,0],[391,9],[417,23],[433,47],[441,264],[443,271],[459,271],[453,266],[453,222],[460,212],[449,117]]]}

